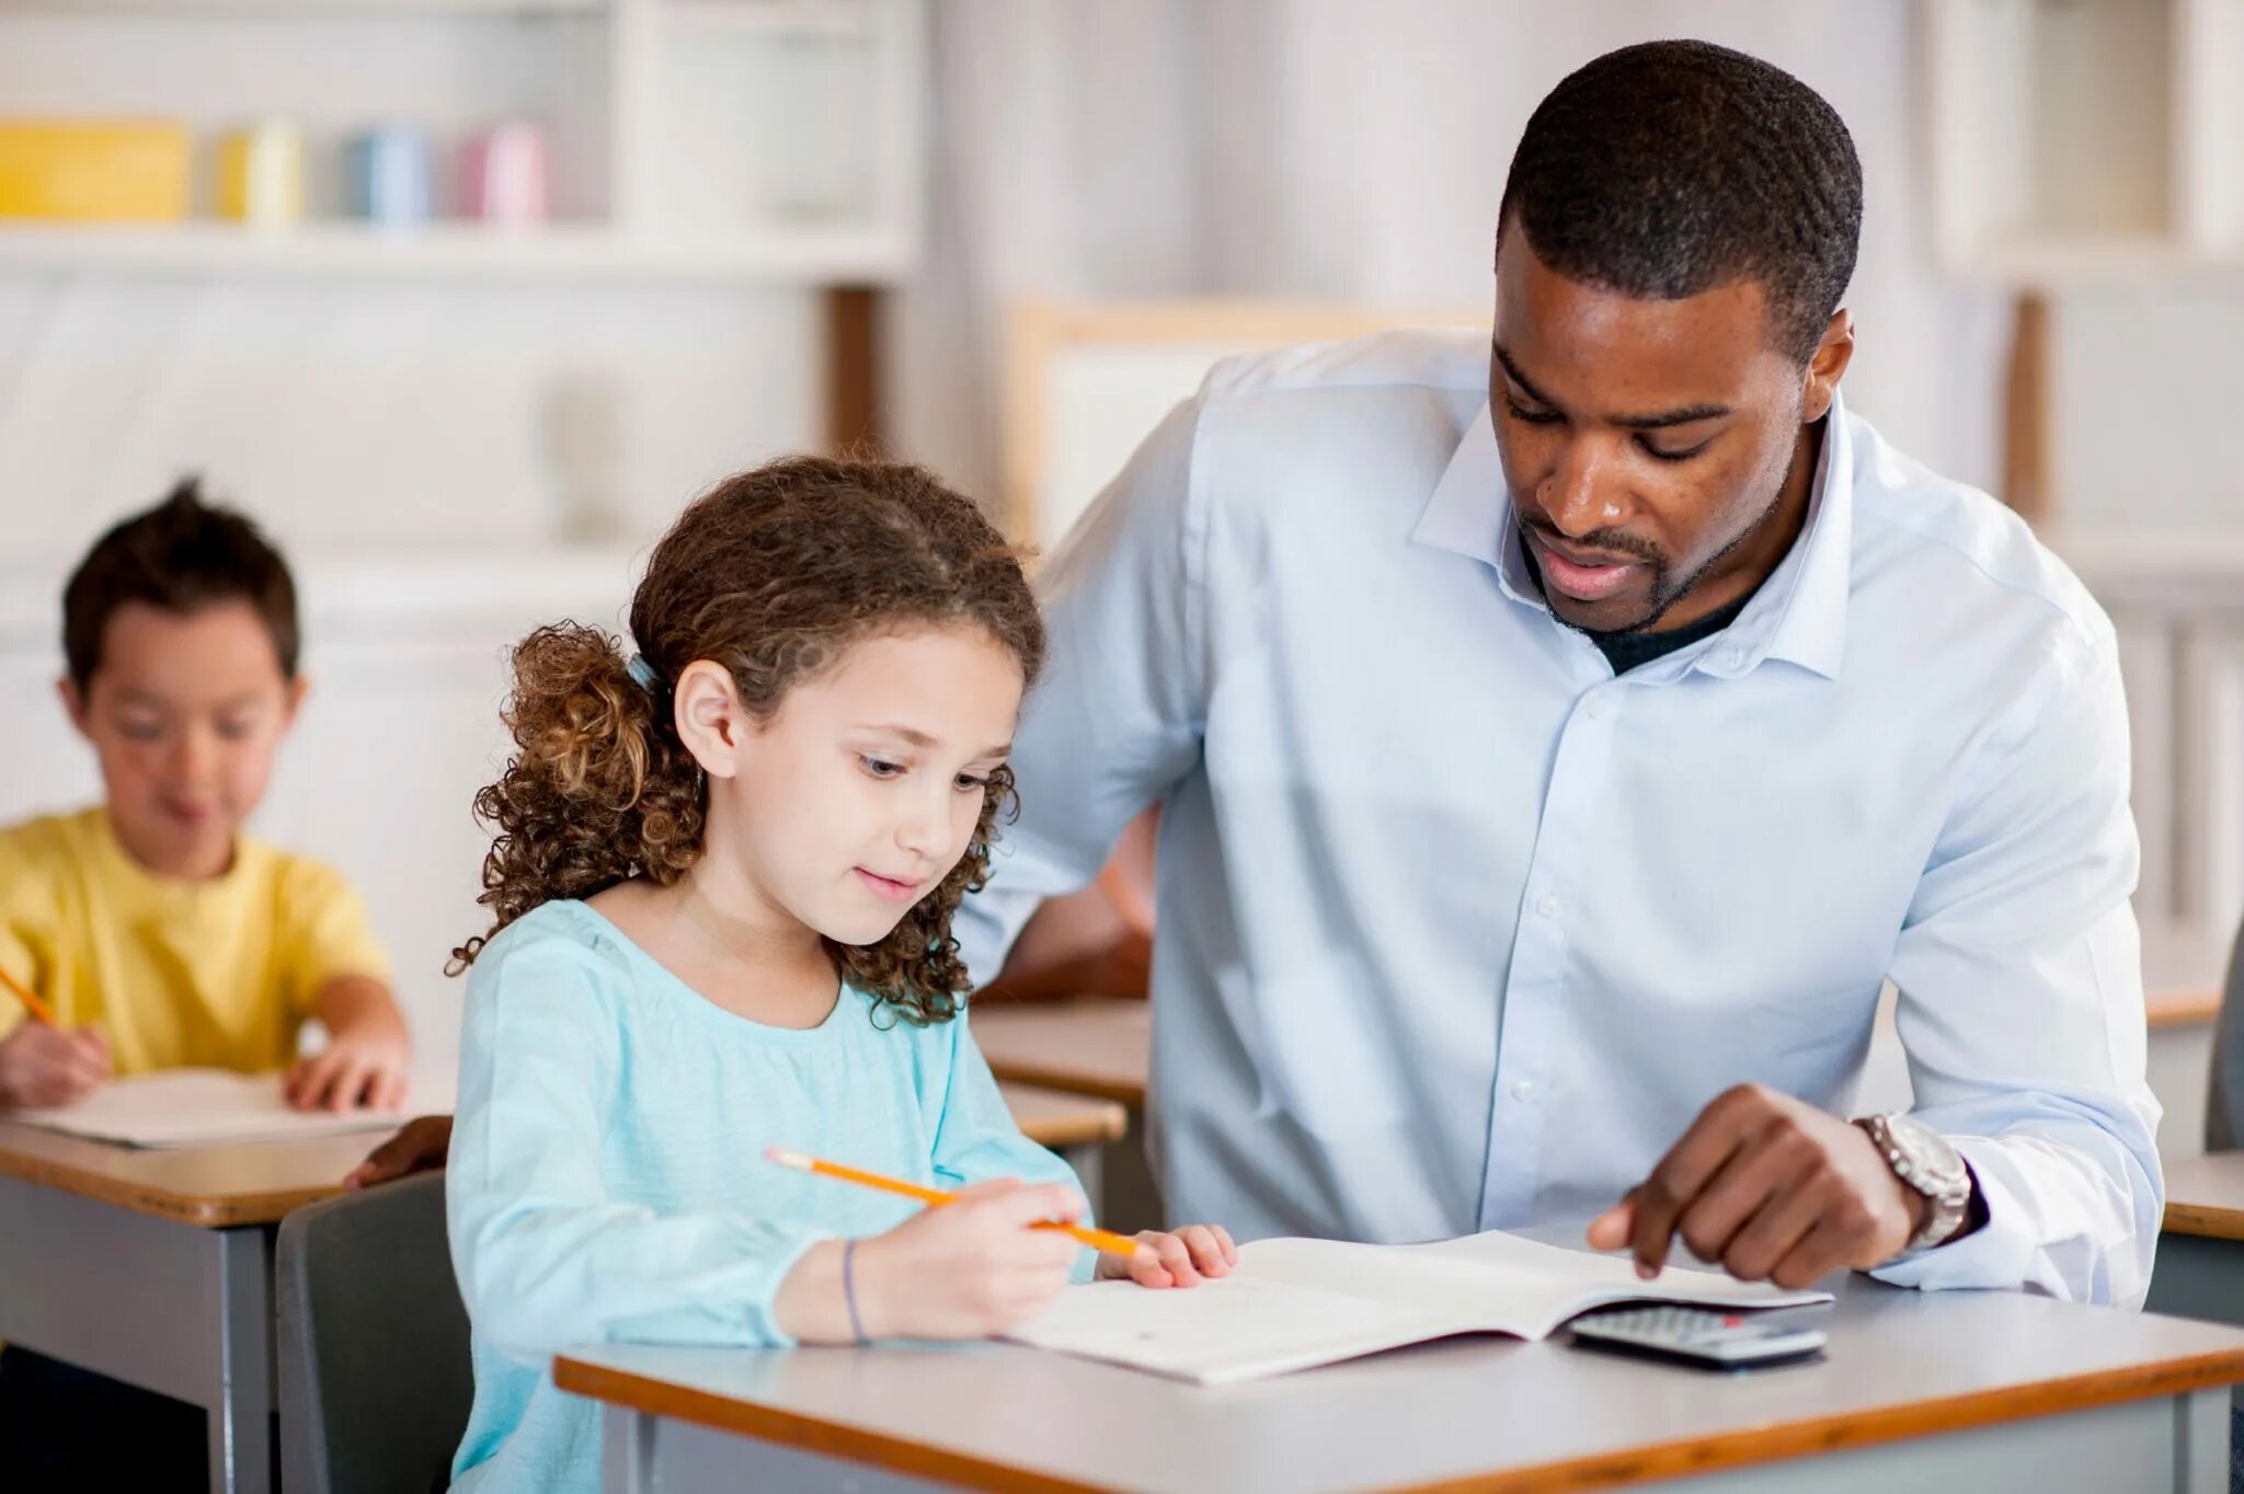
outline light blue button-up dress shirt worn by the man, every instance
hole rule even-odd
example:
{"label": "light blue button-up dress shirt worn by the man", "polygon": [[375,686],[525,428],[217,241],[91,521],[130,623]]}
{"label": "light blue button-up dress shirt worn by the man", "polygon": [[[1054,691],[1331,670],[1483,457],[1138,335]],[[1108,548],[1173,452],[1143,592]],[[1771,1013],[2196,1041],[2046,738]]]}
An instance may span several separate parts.
{"label": "light blue button-up dress shirt worn by the man", "polygon": [[1613,677],[1524,570],[1486,339],[1218,366],[1052,556],[1023,817],[960,938],[1162,803],[1171,1218],[1584,1220],[1723,1088],[1847,1115],[1880,985],[1990,1223],[1878,1274],[2139,1303],[2159,1232],[2112,626],[1833,406],[1730,628]]}

